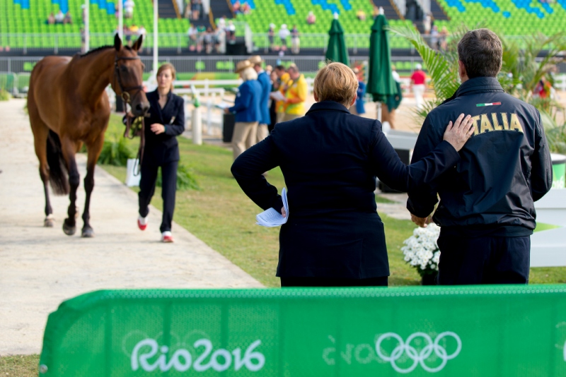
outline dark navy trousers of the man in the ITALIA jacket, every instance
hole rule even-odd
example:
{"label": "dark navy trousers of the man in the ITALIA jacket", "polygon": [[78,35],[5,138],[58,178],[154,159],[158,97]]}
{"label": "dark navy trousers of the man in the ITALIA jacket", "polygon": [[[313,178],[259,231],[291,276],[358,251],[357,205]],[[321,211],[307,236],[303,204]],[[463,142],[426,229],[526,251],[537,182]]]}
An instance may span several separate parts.
{"label": "dark navy trousers of the man in the ITALIA jacket", "polygon": [[439,285],[529,284],[531,237],[443,236]]}

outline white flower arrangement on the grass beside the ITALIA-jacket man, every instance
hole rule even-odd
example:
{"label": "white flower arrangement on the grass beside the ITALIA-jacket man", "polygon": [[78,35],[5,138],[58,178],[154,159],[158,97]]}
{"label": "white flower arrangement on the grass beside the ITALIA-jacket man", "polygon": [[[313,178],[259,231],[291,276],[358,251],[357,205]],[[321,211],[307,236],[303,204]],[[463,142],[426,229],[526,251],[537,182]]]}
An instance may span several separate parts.
{"label": "white flower arrangement on the grass beside the ITALIA-jacket man", "polygon": [[419,274],[431,275],[437,273],[440,261],[440,251],[437,240],[440,235],[440,227],[429,224],[426,228],[417,228],[412,236],[403,241],[401,251],[405,255],[405,261],[417,268]]}

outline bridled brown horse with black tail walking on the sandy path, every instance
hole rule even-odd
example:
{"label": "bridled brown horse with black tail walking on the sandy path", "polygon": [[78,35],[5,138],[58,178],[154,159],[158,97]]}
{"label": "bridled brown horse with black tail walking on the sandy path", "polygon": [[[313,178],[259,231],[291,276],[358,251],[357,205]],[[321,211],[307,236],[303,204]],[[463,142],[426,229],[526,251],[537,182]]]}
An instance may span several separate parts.
{"label": "bridled brown horse with black tail walking on the sandy path", "polygon": [[116,95],[122,96],[132,106],[134,115],[142,116],[147,112],[149,102],[142,87],[144,64],[137,56],[141,42],[140,37],[132,48],[123,47],[116,35],[114,46],[76,54],[72,59],[47,56],[33,68],[28,112],[45,191],[45,227],[53,226],[47,190],[47,182],[50,182],[54,194],[69,194],[71,201],[68,217],[63,222],[63,232],[69,236],[76,232],[79,170],[75,154],[84,143],[88,159],[82,237],[94,236],[88,223],[88,208],[94,188],[94,167],[103,148],[104,132],[110,119],[110,102],[105,90],[108,84],[112,85]]}

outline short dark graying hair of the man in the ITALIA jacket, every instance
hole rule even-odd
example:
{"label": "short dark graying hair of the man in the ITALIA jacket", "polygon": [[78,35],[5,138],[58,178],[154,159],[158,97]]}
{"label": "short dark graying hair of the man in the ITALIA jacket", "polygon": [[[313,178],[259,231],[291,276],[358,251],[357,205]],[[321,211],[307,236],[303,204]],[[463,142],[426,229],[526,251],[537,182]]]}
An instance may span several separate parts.
{"label": "short dark graying hair of the man in the ITALIA jacket", "polygon": [[501,40],[489,29],[470,30],[458,42],[458,58],[466,67],[468,78],[497,76],[502,54]]}

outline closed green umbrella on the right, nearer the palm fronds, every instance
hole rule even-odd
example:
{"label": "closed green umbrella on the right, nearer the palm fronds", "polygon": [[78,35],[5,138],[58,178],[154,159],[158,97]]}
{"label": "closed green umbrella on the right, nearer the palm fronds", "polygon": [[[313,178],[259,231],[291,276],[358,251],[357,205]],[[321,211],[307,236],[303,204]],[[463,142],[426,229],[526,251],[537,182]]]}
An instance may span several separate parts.
{"label": "closed green umbrella on the right, nearer the palm fronds", "polygon": [[374,95],[374,101],[386,102],[388,96],[398,94],[397,85],[391,75],[391,49],[388,25],[383,14],[376,17],[369,36],[369,77],[366,92]]}

